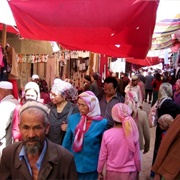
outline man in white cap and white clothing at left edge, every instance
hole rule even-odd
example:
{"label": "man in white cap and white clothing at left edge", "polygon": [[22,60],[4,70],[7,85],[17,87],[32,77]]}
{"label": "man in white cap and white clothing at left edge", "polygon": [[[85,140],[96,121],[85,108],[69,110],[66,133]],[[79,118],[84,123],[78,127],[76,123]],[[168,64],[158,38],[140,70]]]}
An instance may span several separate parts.
{"label": "man in white cap and white clothing at left edge", "polygon": [[0,82],[0,157],[2,150],[12,143],[11,121],[16,105],[19,103],[12,95],[13,85],[8,81]]}

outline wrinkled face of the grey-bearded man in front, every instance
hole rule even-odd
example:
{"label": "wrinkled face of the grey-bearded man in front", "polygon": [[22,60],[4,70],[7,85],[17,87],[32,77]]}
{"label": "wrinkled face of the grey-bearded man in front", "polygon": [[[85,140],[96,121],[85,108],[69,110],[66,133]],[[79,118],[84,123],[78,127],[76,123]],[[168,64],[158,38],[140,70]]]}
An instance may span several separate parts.
{"label": "wrinkled face of the grey-bearded man in front", "polygon": [[49,124],[44,122],[43,114],[34,112],[32,109],[24,111],[20,116],[19,129],[26,153],[40,154],[49,130]]}

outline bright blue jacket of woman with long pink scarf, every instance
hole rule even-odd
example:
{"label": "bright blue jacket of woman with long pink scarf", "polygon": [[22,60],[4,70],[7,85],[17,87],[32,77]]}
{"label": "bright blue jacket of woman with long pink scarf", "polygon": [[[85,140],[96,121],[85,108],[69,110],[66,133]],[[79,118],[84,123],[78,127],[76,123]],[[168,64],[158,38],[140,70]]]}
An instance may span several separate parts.
{"label": "bright blue jacket of woman with long pink scarf", "polygon": [[72,150],[74,131],[81,118],[80,113],[69,116],[68,128],[62,146],[73,153],[76,169],[79,173],[87,173],[97,170],[101,139],[107,129],[107,119],[92,121],[88,131],[84,134],[83,147],[80,152]]}

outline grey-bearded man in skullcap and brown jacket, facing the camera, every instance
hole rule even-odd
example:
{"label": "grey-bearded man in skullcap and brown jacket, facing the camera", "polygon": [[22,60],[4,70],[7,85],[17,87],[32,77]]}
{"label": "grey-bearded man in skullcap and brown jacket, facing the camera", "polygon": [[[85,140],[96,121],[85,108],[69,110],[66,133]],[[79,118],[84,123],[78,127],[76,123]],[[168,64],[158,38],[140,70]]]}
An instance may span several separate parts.
{"label": "grey-bearded man in skullcap and brown jacket, facing the camera", "polygon": [[0,177],[5,179],[77,179],[73,155],[46,139],[47,106],[29,100],[20,110],[22,141],[3,150]]}

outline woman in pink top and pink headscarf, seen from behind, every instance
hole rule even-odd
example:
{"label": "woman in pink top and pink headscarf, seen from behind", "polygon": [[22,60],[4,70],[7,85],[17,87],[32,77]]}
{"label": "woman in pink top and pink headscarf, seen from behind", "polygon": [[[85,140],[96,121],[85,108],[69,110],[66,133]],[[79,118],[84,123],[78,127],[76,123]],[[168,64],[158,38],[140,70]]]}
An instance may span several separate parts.
{"label": "woman in pink top and pink headscarf, seen from behind", "polygon": [[105,131],[98,161],[98,179],[103,179],[106,164],[107,180],[136,180],[141,170],[139,133],[132,111],[123,103],[112,108],[114,127]]}

